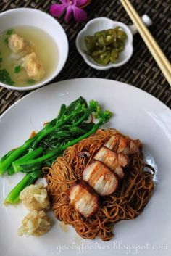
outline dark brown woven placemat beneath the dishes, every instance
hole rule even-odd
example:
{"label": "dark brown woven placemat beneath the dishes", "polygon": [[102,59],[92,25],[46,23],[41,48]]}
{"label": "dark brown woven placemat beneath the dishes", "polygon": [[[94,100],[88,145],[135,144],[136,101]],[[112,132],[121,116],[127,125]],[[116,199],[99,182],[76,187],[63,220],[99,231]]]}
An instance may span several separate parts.
{"label": "dark brown woven placemat beneath the dishes", "polygon": [[[0,0],[0,12],[17,7],[30,7],[41,9],[44,12],[49,12],[50,0]],[[161,46],[164,54],[168,59],[171,59],[170,54],[170,39],[171,39],[171,1],[170,0],[132,0],[133,6],[137,9],[139,15],[147,14],[153,20],[150,31],[156,38],[159,46]],[[130,24],[125,9],[123,9],[120,1],[117,0],[93,0],[86,7],[88,12],[88,20],[94,17],[109,17],[112,20],[119,20]],[[143,43],[141,36],[134,36],[134,54],[130,61],[122,67],[107,71],[93,70],[88,67],[78,54],[75,47],[75,38],[85,23],[77,24],[74,20],[70,20],[68,24],[64,23],[63,17],[59,19],[64,30],[67,33],[70,44],[70,53],[67,63],[59,76],[54,81],[65,80],[70,78],[107,78],[119,80],[124,83],[129,83],[135,87],[141,88],[149,92],[153,96],[160,99],[168,107],[171,107],[171,91],[167,80],[162,75],[156,62]],[[22,98],[29,91],[11,91],[0,86],[0,115],[4,110]],[[146,104],[146,102],[144,102]]]}

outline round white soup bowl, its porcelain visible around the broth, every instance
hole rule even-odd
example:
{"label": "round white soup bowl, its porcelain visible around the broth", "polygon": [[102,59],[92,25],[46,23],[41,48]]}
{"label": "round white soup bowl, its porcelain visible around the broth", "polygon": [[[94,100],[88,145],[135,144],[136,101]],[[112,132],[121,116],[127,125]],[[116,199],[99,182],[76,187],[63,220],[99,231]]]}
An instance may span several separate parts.
{"label": "round white soup bowl, its porcelain visible around the broth", "polygon": [[57,22],[57,20],[55,20],[53,17],[46,14],[46,12],[31,8],[18,8],[11,9],[7,12],[2,12],[0,14],[0,33],[4,30],[8,30],[9,28],[23,25],[40,28],[41,30],[49,34],[49,36],[51,36],[51,38],[54,40],[55,44],[57,44],[59,56],[57,67],[54,69],[54,72],[51,73],[49,78],[41,81],[40,83],[36,83],[36,85],[17,87],[9,86],[5,83],[0,82],[1,86],[19,91],[33,90],[53,80],[64,67],[64,64],[67,60],[69,48],[67,36],[64,32],[64,29],[62,28],[62,25],[60,25],[59,22]]}

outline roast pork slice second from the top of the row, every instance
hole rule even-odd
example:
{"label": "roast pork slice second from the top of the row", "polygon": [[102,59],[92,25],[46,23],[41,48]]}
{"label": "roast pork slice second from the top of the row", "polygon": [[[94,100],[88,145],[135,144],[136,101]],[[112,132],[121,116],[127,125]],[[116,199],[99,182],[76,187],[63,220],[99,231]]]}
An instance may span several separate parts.
{"label": "roast pork slice second from the top of the row", "polygon": [[124,172],[122,168],[128,165],[127,156],[124,154],[117,154],[106,146],[101,146],[101,149],[96,153],[94,160],[103,162],[104,165],[107,165],[107,167],[116,173],[119,178],[123,178]]}

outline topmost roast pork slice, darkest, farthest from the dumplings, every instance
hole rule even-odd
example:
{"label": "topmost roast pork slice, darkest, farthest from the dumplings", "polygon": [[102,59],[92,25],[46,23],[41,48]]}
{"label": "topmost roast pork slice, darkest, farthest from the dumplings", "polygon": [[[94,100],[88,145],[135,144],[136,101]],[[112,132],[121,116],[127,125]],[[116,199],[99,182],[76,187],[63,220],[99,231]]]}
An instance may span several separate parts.
{"label": "topmost roast pork slice, darkest, farthest from the dumplings", "polygon": [[117,133],[111,136],[104,146],[114,152],[130,155],[140,152],[141,141],[139,139],[133,140],[128,137],[123,137],[121,134]]}

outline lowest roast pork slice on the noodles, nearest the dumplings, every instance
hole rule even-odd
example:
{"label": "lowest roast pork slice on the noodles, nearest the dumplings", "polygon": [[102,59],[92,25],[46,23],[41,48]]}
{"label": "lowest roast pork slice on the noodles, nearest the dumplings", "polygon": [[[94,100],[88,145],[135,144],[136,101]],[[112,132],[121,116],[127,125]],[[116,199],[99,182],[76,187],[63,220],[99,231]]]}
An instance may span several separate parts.
{"label": "lowest roast pork slice on the noodles, nearest the dumplings", "polygon": [[99,209],[99,196],[86,182],[74,183],[68,191],[68,197],[75,210],[86,218]]}

